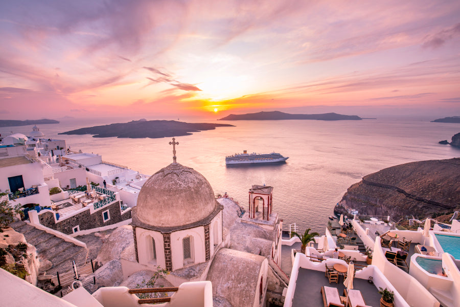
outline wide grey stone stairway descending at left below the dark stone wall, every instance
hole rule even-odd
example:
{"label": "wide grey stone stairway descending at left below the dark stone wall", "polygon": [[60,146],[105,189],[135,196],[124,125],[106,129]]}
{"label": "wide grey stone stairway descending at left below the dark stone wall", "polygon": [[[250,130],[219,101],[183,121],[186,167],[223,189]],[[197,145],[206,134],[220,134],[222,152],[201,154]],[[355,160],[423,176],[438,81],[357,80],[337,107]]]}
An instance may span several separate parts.
{"label": "wide grey stone stairway descending at left below the dark stone wall", "polygon": [[24,234],[27,243],[35,246],[37,254],[42,259],[48,259],[53,267],[47,270],[47,275],[56,275],[56,272],[72,270],[72,261],[77,264],[86,261],[87,249],[64,241],[53,234],[47,233],[22,221],[10,224],[15,231]]}

